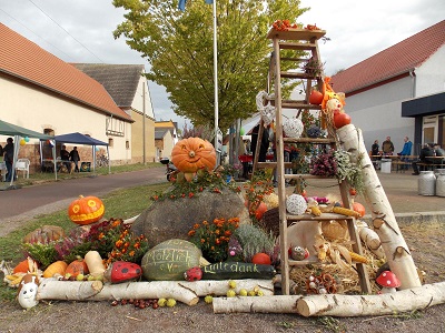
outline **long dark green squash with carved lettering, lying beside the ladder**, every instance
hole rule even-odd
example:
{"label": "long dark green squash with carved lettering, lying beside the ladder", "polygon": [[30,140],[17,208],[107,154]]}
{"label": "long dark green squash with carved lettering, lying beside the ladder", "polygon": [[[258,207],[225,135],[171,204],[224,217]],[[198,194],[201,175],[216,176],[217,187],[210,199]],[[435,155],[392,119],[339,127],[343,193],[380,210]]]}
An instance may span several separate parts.
{"label": "long dark green squash with carved lettering, lying beside the ladder", "polygon": [[277,273],[273,265],[263,265],[246,262],[218,262],[201,268],[202,280],[239,280],[261,279],[269,280]]}

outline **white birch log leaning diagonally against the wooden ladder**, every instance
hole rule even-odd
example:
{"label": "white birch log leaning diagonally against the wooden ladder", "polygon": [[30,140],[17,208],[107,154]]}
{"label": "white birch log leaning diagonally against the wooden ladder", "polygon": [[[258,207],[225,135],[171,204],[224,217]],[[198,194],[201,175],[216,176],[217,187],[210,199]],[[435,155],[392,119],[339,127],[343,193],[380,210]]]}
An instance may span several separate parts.
{"label": "white birch log leaning diagonally against the wooden ladder", "polygon": [[356,162],[362,155],[365,199],[372,206],[373,225],[382,241],[389,269],[400,280],[402,290],[421,286],[413,256],[366,151],[362,131],[353,124],[348,124],[338,129],[337,135],[344,150],[352,154],[353,162]]}

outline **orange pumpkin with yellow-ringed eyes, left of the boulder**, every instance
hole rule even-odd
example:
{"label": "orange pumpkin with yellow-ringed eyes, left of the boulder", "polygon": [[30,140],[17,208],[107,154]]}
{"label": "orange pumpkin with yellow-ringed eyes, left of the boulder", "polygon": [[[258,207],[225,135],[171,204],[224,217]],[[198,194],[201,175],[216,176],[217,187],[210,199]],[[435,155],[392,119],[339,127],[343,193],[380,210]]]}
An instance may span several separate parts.
{"label": "orange pumpkin with yellow-ringed eyes, left of the boulder", "polygon": [[77,224],[86,225],[99,221],[105,214],[102,201],[97,196],[80,195],[68,208],[68,216]]}

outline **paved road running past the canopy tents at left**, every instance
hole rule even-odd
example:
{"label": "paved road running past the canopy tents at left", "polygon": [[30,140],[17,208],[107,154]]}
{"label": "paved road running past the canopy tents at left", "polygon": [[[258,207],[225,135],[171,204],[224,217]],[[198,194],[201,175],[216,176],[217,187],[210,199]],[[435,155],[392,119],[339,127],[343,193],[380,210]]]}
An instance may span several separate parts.
{"label": "paved road running past the canopy tents at left", "polygon": [[79,195],[100,196],[116,189],[165,182],[165,171],[164,167],[159,167],[1,191],[0,225],[22,220],[23,215],[33,218],[36,214],[49,213],[59,206],[67,206],[67,203]]}

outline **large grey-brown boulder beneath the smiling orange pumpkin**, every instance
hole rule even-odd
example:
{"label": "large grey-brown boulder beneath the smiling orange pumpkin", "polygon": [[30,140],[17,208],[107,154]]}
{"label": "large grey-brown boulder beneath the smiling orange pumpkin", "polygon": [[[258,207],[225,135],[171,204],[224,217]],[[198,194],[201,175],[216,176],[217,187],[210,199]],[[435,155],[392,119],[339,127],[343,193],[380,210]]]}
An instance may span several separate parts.
{"label": "large grey-brown boulder beneath the smiling orange pumpkin", "polygon": [[194,198],[155,201],[132,223],[131,231],[145,234],[155,246],[170,239],[189,240],[187,233],[195,223],[212,222],[248,214],[243,198],[229,189],[221,193],[205,190]]}

